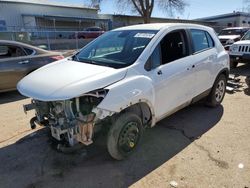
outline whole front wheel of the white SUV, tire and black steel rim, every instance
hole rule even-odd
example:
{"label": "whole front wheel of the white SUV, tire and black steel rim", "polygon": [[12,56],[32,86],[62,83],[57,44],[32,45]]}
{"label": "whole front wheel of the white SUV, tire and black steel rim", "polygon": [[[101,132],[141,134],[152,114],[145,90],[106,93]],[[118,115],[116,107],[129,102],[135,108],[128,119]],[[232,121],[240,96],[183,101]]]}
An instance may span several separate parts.
{"label": "whole front wheel of the white SUV, tire and black steel rim", "polygon": [[109,154],[116,160],[127,158],[137,149],[142,134],[142,121],[138,115],[126,112],[117,116],[108,132]]}

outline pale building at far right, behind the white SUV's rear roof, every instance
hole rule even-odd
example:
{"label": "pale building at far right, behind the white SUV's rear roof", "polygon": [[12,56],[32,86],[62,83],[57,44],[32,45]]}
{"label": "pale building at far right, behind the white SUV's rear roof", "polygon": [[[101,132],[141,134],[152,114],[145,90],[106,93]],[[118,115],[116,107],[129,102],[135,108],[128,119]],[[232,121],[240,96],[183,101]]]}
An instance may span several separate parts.
{"label": "pale building at far right, behind the white SUV's rear roof", "polygon": [[217,32],[226,27],[250,27],[250,14],[245,12],[233,12],[196,20],[214,22],[214,29]]}

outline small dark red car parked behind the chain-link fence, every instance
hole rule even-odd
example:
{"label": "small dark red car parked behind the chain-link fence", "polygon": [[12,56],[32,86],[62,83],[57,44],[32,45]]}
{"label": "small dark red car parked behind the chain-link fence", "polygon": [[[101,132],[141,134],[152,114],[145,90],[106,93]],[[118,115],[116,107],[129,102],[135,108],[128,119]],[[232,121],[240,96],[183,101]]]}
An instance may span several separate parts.
{"label": "small dark red car parked behind the chain-link fence", "polygon": [[85,31],[79,31],[76,34],[78,39],[90,39],[97,38],[102,35],[105,31],[100,27],[89,27]]}

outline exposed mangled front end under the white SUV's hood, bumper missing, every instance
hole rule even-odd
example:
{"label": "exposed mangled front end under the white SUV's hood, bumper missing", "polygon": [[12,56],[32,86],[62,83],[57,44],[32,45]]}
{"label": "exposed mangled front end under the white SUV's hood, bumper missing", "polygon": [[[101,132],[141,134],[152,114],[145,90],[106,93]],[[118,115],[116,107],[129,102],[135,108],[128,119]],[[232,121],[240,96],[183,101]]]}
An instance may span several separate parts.
{"label": "exposed mangled front end under the white SUV's hood, bumper missing", "polygon": [[49,126],[52,137],[68,146],[77,143],[89,145],[93,142],[94,132],[98,130],[95,125],[104,117],[99,118],[100,111],[96,107],[107,93],[108,90],[101,89],[70,100],[32,100],[31,104],[24,106],[24,110],[36,111],[36,117],[31,120],[31,128],[35,127],[34,124]]}

